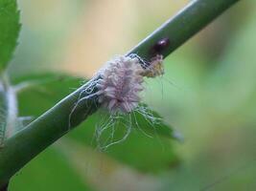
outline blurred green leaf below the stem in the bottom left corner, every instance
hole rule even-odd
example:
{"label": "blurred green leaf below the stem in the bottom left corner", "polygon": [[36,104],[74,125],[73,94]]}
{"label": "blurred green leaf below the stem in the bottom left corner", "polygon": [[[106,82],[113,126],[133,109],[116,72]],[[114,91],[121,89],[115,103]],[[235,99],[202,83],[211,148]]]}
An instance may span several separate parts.
{"label": "blurred green leaf below the stem in the bottom left corner", "polygon": [[91,190],[56,149],[33,159],[10,182],[10,191]]}

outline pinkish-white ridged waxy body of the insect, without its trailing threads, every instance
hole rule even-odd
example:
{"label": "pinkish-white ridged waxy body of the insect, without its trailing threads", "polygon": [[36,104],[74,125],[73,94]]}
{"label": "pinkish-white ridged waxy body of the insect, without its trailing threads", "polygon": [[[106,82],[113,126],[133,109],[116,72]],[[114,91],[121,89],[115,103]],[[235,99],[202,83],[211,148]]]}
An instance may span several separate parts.
{"label": "pinkish-white ridged waxy body of the insect, without its trailing threads", "polygon": [[97,85],[99,102],[110,113],[133,111],[143,91],[142,73],[143,68],[136,57],[121,55],[107,62]]}

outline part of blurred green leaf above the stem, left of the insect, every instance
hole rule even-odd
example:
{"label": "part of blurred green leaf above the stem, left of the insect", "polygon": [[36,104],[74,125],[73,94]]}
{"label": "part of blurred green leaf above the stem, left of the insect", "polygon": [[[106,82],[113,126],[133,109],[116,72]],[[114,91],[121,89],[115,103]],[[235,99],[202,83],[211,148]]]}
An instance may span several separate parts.
{"label": "part of blurred green leaf above the stem, left of the insect", "polygon": [[21,87],[18,93],[20,116],[38,117],[79,88],[82,81],[66,74],[33,74],[12,79],[12,84]]}

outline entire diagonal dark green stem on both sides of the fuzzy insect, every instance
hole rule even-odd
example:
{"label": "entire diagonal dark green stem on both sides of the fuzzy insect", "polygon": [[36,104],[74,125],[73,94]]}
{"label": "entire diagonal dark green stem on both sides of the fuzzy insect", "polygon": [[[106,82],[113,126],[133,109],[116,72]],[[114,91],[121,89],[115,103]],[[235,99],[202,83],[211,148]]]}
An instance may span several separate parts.
{"label": "entire diagonal dark green stem on both sides of the fuzzy insect", "polygon": [[[137,53],[145,59],[150,59],[155,54],[152,50],[158,40],[168,38],[170,41],[168,46],[157,51],[167,56],[238,1],[195,0],[129,53]],[[82,120],[97,110],[95,105],[97,97],[84,99],[72,115],[71,125],[69,125],[74,105],[88,85],[89,83],[86,83],[73,94],[63,98],[56,106],[5,142],[4,148],[0,150],[0,185],[7,182],[46,147],[65,135],[69,129],[79,125]],[[88,95],[83,94],[82,97],[84,96]]]}

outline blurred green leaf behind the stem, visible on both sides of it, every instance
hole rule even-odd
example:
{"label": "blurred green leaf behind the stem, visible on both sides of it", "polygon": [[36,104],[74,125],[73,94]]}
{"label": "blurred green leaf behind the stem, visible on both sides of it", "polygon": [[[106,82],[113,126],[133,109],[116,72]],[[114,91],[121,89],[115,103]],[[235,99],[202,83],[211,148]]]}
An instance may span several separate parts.
{"label": "blurred green leaf behind the stem, visible on both sides of it", "polygon": [[[32,84],[34,84],[31,89],[21,92],[18,96],[20,114],[24,117],[41,115],[62,97],[72,92],[72,89],[78,88],[82,82],[81,78],[61,74],[28,76],[18,81],[24,80],[32,81]],[[36,81],[37,84],[33,81]],[[143,108],[147,107],[145,104],[142,106]],[[134,116],[131,115],[130,117],[132,130],[128,138],[108,147],[105,152],[114,159],[140,171],[159,172],[175,165],[178,160],[170,140],[170,138],[175,138],[175,132],[164,121],[158,119],[159,115],[157,113],[149,109],[147,113],[156,118],[155,122],[151,122],[150,118],[144,117],[145,115],[134,113]],[[100,143],[94,139],[95,128],[97,125],[103,125],[99,121],[103,120],[104,117],[108,117],[104,112],[92,115],[79,128],[71,132],[68,137],[94,148],[99,146]],[[124,118],[124,120],[129,120],[129,117]],[[115,136],[112,142],[124,138],[127,132],[127,126],[122,123],[117,123],[115,128]],[[101,141],[109,138],[110,134],[111,127],[108,131],[105,131]],[[111,143],[111,141],[108,143]]]}

